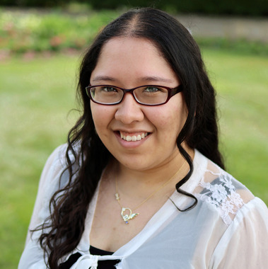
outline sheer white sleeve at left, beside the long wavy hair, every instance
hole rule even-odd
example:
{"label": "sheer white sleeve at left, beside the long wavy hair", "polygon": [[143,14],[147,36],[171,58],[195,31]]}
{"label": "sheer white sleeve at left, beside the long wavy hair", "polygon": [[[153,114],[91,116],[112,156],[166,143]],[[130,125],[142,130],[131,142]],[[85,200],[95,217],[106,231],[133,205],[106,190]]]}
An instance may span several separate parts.
{"label": "sheer white sleeve at left, beside the long wavy hair", "polygon": [[21,256],[18,269],[47,268],[44,259],[44,251],[40,247],[38,239],[41,231],[30,232],[43,224],[49,217],[49,200],[59,188],[59,177],[64,171],[64,152],[66,147],[60,146],[49,156],[43,168],[40,183],[35,200],[33,215],[30,220],[25,249]]}

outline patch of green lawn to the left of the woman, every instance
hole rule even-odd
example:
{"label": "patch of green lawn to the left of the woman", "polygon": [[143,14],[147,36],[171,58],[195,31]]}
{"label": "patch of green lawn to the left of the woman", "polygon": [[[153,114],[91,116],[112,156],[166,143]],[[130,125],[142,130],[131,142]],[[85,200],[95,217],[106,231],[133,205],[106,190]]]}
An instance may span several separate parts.
{"label": "patch of green lawn to the left of the woman", "polygon": [[77,57],[0,64],[0,268],[16,268],[42,166],[74,122]]}

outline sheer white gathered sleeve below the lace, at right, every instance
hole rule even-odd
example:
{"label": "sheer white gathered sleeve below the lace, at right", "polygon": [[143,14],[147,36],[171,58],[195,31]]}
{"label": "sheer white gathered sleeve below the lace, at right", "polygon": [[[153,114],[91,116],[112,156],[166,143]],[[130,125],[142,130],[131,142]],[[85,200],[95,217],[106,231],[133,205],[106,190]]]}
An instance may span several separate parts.
{"label": "sheer white gathered sleeve below the lace, at right", "polygon": [[238,210],[214,250],[209,268],[267,268],[268,209],[254,198]]}

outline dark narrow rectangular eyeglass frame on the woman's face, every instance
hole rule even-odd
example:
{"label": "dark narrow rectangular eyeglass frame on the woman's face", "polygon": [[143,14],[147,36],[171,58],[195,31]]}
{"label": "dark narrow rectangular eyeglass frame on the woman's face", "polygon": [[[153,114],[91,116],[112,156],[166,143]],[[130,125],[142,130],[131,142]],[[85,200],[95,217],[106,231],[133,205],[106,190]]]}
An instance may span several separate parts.
{"label": "dark narrow rectangular eyeglass frame on the woman's face", "polygon": [[[115,103],[100,103],[97,102],[93,99],[93,97],[91,96],[91,88],[95,88],[95,87],[114,87],[114,88],[119,88],[120,90],[123,91],[123,96],[121,98],[120,101],[115,102]],[[158,104],[147,104],[147,103],[141,103],[139,100],[136,99],[136,96],[134,96],[134,90],[136,90],[136,88],[141,88],[141,87],[160,87],[160,88],[165,88],[166,90],[168,90],[168,97],[167,100],[163,103],[158,103]],[[124,95],[126,93],[131,93],[132,96],[134,97],[134,100],[136,101],[136,103],[139,103],[140,105],[149,105],[149,106],[156,106],[156,105],[163,105],[165,103],[168,103],[168,101],[170,100],[171,97],[175,96],[175,94],[180,93],[181,91],[183,91],[183,87],[182,84],[180,84],[179,86],[175,87],[175,88],[170,88],[167,86],[160,86],[160,85],[142,85],[142,86],[138,86],[135,88],[120,88],[118,86],[112,86],[112,85],[93,85],[93,86],[87,86],[86,87],[86,94],[88,95],[89,98],[91,98],[91,101],[93,101],[94,103],[98,103],[99,105],[117,105],[119,103],[121,103],[124,99]]]}

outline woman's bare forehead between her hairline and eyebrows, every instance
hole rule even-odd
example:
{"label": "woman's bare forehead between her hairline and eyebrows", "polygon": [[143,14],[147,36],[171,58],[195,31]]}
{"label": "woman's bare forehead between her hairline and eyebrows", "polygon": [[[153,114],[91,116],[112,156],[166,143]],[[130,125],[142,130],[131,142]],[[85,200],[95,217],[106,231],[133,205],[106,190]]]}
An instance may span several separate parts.
{"label": "woman's bare forehead between her hairline and eyebrows", "polygon": [[92,81],[139,79],[177,84],[177,76],[158,48],[145,38],[112,38],[103,45]]}

